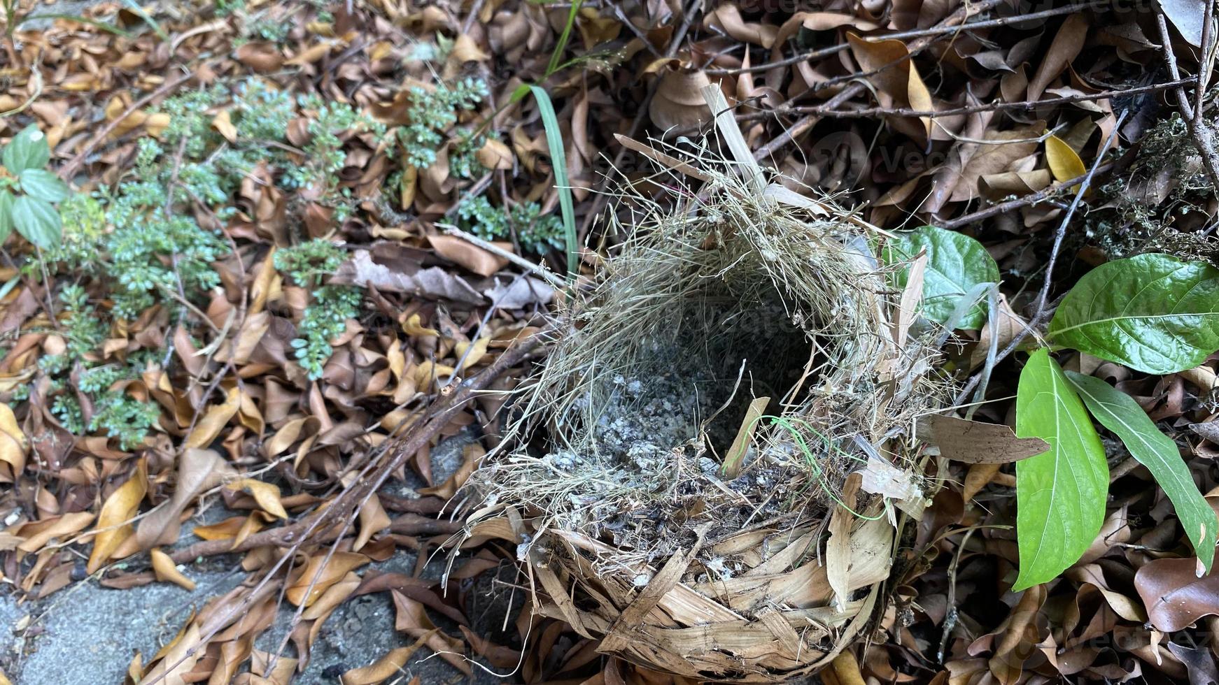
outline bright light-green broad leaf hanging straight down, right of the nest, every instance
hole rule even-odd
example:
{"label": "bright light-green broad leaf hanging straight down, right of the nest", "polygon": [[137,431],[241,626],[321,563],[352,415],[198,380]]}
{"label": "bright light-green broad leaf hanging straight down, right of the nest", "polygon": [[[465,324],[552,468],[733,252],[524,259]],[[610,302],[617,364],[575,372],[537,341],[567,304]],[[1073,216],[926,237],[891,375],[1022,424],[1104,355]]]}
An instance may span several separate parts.
{"label": "bright light-green broad leaf hanging straight down, right of the nest", "polygon": [[1012,589],[1023,590],[1052,580],[1096,539],[1109,466],[1084,404],[1045,348],[1020,372],[1015,434],[1050,443],[1048,450],[1015,464],[1020,574]]}

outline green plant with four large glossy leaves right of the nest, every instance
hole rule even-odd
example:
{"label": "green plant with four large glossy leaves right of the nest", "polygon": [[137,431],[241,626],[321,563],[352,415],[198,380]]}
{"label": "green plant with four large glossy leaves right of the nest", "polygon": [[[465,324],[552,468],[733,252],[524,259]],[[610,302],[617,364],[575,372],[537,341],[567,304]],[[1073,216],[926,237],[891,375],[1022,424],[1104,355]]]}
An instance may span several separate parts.
{"label": "green plant with four large glossy leaves right of the nest", "polygon": [[[980,243],[945,234],[919,229],[883,251],[886,262],[896,263],[926,249],[923,314],[941,322],[963,294],[998,274]],[[903,277],[898,270],[897,280],[904,283]],[[985,311],[970,310],[962,327],[980,325],[975,314]],[[1092,269],[1058,305],[1046,346],[1031,350],[1017,388],[1017,436],[1041,438],[1050,449],[1015,465],[1020,569],[1013,589],[1052,580],[1101,530],[1109,470],[1093,419],[1164,489],[1197,551],[1199,572],[1209,572],[1219,518],[1176,444],[1125,393],[1101,378],[1064,371],[1051,355],[1064,348],[1153,375],[1196,367],[1219,349],[1219,270],[1168,254],[1140,254]]]}

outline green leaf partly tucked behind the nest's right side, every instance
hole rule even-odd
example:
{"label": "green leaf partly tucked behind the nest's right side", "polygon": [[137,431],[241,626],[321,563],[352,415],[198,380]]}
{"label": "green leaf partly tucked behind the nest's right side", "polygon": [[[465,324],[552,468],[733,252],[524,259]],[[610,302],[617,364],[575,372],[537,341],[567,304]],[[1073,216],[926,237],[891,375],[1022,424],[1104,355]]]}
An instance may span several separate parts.
{"label": "green leaf partly tucked behind the nest's right side", "polygon": [[[937,324],[947,324],[961,297],[978,283],[997,283],[998,265],[976,240],[956,231],[922,226],[885,245],[881,257],[886,264],[908,262],[926,248],[926,271],[923,274],[923,315]],[[896,275],[896,286],[906,287],[908,271]],[[981,329],[986,320],[985,303],[978,303],[961,320],[962,329]]]}

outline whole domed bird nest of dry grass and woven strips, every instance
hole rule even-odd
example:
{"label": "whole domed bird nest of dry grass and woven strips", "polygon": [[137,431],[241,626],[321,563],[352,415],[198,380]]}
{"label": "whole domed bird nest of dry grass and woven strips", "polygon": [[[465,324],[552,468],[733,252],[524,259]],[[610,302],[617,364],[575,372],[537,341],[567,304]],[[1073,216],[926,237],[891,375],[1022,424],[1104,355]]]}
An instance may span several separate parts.
{"label": "whole domed bird nest of dry grass and woven strips", "polygon": [[623,198],[635,228],[561,307],[467,485],[464,546],[513,543],[534,611],[603,653],[772,683],[883,613],[922,506],[909,428],[944,393],[908,330],[920,280],[894,292],[879,229],[768,185],[705,94],[729,159],[627,141],[668,167],[675,207]]}

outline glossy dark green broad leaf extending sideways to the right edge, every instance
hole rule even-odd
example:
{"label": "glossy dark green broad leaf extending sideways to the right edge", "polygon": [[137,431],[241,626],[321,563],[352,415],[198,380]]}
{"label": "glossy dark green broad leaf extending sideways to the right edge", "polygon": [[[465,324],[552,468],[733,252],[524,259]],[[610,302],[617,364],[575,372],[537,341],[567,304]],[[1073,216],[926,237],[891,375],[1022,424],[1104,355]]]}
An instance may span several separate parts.
{"label": "glossy dark green broad leaf extending sideways to the right edge", "polygon": [[1219,349],[1219,270],[1168,254],[1102,264],[1067,293],[1047,335],[1146,374],[1193,369]]}

